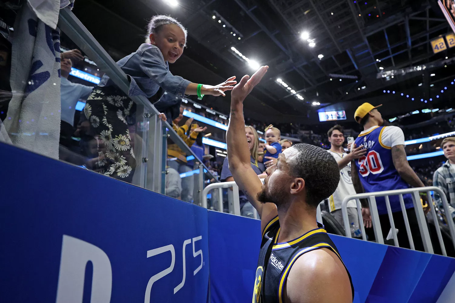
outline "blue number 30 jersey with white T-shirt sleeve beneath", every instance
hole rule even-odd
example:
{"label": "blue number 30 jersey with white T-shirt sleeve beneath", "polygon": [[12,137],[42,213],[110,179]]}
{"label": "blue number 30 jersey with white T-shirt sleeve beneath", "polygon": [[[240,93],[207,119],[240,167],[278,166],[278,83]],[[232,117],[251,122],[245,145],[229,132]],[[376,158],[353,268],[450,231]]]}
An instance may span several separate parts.
{"label": "blue number 30 jersey with white T-shirt sleeve beneath", "polygon": [[[399,127],[373,126],[361,132],[355,144],[367,149],[367,154],[355,161],[366,193],[409,188],[392,160],[392,147],[404,145],[404,134]],[[403,199],[406,209],[414,207],[411,194],[404,194]],[[389,201],[392,212],[401,211],[398,196],[389,196]],[[379,214],[387,214],[384,197],[376,197],[376,204]]]}

